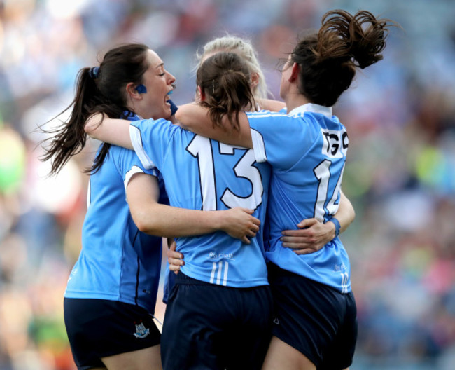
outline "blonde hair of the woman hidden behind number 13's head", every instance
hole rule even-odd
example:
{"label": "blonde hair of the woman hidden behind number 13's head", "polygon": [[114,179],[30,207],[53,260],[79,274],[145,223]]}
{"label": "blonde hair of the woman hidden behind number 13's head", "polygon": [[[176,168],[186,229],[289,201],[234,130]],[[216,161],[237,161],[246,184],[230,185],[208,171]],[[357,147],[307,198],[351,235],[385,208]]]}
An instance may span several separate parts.
{"label": "blonde hair of the woman hidden behind number 13's head", "polygon": [[197,67],[201,66],[202,58],[205,55],[210,53],[217,53],[218,51],[227,51],[239,55],[239,57],[245,61],[250,74],[258,74],[258,85],[253,91],[255,99],[267,99],[269,90],[267,88],[267,84],[265,83],[265,76],[262,72],[262,69],[260,68],[258,56],[256,55],[256,52],[250,41],[230,35],[218,37],[217,39],[209,41],[204,45],[204,48],[202,48],[202,54],[199,52],[196,54],[197,60],[199,62]]}

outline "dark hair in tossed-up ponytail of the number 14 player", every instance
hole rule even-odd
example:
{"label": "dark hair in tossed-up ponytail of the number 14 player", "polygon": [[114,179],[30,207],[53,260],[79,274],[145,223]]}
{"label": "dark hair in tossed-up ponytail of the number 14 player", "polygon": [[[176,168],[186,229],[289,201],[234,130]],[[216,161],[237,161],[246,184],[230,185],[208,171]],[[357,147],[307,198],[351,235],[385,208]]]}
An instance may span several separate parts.
{"label": "dark hair in tossed-up ponytail of the number 14 player", "polygon": [[316,34],[304,37],[290,54],[300,66],[300,93],[310,102],[332,107],[349,88],[356,68],[382,59],[388,19],[377,19],[368,11],[355,15],[342,10],[325,13]]}

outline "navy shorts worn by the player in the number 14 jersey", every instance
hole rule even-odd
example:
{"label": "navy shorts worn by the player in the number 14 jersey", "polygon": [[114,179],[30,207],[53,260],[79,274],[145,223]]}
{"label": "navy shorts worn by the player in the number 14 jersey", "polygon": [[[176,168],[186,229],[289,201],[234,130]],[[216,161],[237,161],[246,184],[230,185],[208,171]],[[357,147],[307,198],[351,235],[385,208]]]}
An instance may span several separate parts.
{"label": "navy shorts worn by the player in the number 14 jersey", "polygon": [[352,292],[269,263],[274,299],[273,335],[302,352],[318,370],[351,366],[357,341],[357,308]]}

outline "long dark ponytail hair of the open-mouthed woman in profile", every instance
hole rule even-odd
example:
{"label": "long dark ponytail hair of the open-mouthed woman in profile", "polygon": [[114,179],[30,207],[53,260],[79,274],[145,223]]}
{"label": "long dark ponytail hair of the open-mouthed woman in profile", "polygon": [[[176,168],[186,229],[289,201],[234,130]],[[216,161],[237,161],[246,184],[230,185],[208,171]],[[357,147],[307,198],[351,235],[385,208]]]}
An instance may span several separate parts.
{"label": "long dark ponytail hair of the open-mouthed woman in profile", "polygon": [[[76,78],[76,96],[64,109],[67,111],[73,107],[69,120],[55,130],[43,130],[53,135],[45,139],[44,142],[50,141],[50,145],[41,157],[43,161],[51,160],[50,174],[57,174],[71,156],[84,148],[87,139],[84,125],[90,115],[102,112],[110,118],[121,118],[125,111],[130,112],[125,86],[130,82],[142,83],[144,72],[148,69],[147,50],[148,46],[141,43],[125,44],[109,50],[99,67],[80,69]],[[99,170],[110,146],[102,144],[99,155],[87,172]]]}

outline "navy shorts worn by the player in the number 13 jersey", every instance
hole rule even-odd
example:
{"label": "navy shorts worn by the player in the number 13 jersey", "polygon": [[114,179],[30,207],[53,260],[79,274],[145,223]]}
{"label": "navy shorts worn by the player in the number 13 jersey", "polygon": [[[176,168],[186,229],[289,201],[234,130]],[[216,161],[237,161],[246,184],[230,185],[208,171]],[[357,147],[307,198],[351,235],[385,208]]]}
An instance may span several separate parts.
{"label": "navy shorts worn by the player in the number 13 jersey", "polygon": [[268,285],[232,288],[176,275],[162,328],[166,370],[255,370],[272,336]]}

